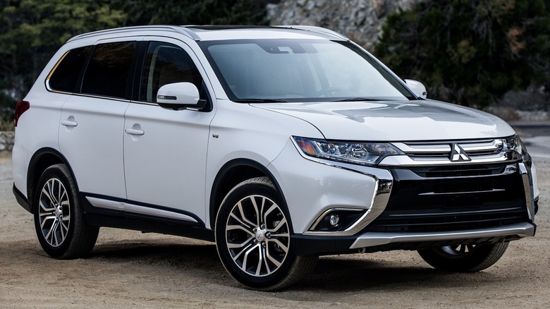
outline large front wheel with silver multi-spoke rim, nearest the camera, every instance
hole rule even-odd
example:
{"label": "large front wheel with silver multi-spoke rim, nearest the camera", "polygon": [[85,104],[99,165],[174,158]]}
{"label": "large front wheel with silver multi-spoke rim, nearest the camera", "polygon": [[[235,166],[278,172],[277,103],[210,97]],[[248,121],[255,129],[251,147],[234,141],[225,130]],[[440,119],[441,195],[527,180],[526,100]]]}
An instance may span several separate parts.
{"label": "large front wheel with silver multi-spoke rim, nearest the camera", "polygon": [[291,224],[267,177],[235,186],[216,217],[216,247],[231,276],[250,289],[274,291],[307,277],[317,256],[296,256]]}

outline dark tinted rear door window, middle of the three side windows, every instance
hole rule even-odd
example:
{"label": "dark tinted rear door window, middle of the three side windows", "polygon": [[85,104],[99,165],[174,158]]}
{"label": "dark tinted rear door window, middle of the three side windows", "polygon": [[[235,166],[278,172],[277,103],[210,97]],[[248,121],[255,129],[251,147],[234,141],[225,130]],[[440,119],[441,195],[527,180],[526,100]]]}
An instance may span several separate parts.
{"label": "dark tinted rear door window, middle of the three side windows", "polygon": [[99,44],[82,80],[82,93],[126,97],[135,42]]}

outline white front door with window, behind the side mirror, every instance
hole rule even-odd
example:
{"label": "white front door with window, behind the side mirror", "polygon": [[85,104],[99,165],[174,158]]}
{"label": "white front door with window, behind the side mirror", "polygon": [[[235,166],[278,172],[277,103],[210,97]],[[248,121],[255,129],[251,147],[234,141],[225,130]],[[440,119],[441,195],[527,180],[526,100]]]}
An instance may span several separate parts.
{"label": "white front door with window, behind the side mirror", "polygon": [[209,124],[214,111],[163,109],[156,97],[162,85],[189,82],[212,107],[207,95],[210,86],[188,45],[169,38],[149,40],[138,102],[126,110],[126,211],[202,225]]}

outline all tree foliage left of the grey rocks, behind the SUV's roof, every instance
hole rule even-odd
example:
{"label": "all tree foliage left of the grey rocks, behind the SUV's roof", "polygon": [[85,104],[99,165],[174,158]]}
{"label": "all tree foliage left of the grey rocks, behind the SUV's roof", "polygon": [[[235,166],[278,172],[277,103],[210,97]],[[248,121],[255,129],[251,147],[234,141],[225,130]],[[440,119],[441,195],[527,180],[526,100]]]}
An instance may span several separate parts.
{"label": "all tree foliage left of the grey rocks, behind the SUV's roof", "polygon": [[267,0],[0,0],[0,120],[71,37],[123,25],[267,24]]}

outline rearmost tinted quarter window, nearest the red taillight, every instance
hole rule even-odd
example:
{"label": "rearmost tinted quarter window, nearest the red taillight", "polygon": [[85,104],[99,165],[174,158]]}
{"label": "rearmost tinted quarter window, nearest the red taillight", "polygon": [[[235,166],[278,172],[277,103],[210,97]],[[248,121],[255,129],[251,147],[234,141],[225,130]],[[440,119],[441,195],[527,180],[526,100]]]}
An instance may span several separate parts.
{"label": "rearmost tinted quarter window, nearest the red taillight", "polygon": [[74,92],[75,85],[92,47],[71,49],[49,76],[48,84],[52,90]]}

